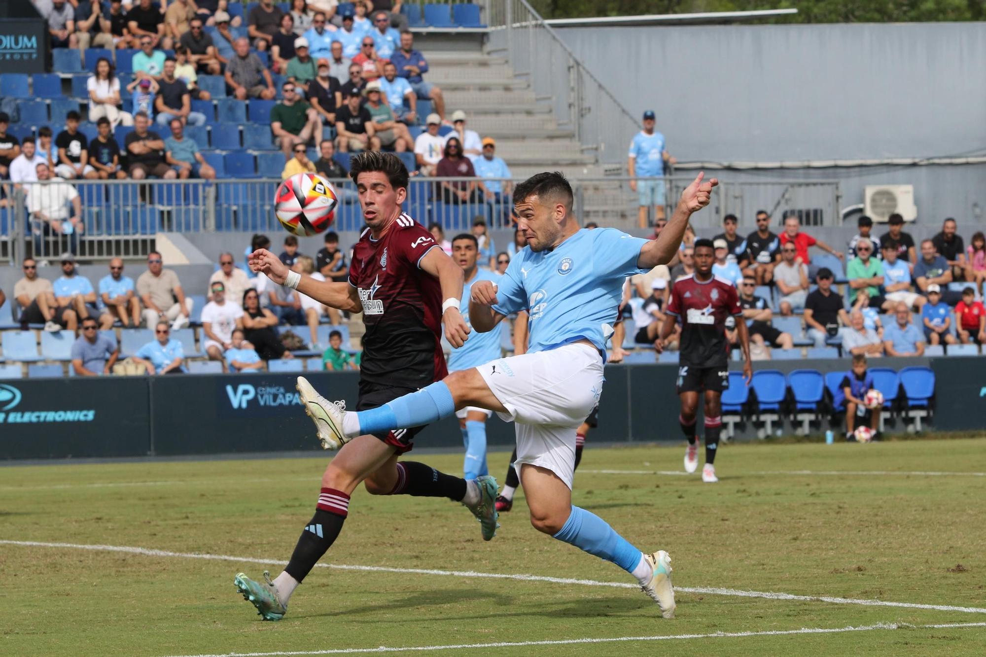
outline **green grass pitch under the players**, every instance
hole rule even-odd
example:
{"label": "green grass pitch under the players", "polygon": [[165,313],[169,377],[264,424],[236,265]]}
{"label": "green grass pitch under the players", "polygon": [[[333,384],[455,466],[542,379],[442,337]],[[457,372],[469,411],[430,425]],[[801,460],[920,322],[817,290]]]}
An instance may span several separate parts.
{"label": "green grass pitch under the players", "polygon": [[[575,502],[635,545],[668,549],[680,587],[986,608],[986,439],[721,449],[717,485],[670,471],[683,449],[586,450]],[[459,455],[420,457],[458,472]],[[502,475],[506,455],[490,455]],[[0,539],[231,554],[243,561],[0,545],[0,654],[190,655],[587,637],[984,622],[986,614],[679,593],[677,619],[633,589],[317,568],[288,616],[236,594],[249,557],[286,560],[311,518],[319,459],[0,469]],[[122,485],[121,485],[122,484]],[[523,494],[491,543],[458,504],[354,496],[340,564],[626,582],[612,564],[530,528]],[[961,564],[960,567],[958,564]],[[455,649],[441,654],[950,655],[986,627]]]}

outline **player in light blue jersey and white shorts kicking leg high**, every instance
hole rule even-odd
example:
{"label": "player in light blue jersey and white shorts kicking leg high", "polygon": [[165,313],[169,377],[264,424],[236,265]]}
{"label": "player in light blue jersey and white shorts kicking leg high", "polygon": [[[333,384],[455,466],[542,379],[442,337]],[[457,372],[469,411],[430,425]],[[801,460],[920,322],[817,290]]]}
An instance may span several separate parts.
{"label": "player in light blue jersey and white shorts kicking leg high", "polygon": [[[460,370],[420,391],[370,410],[346,411],[299,377],[301,401],[323,445],[338,448],[361,434],[414,427],[479,406],[514,421],[530,523],[540,532],[612,561],[674,616],[670,557],[644,553],[605,521],[572,505],[576,428],[602,392],[605,341],[612,333],[626,276],[666,264],[677,252],[693,212],[708,205],[714,179],[699,174],[681,193],[673,216],[655,240],[614,229],[580,230],[572,187],[561,174],[538,174],[514,190],[518,227],[528,246],[511,261],[499,285],[474,281],[469,322],[487,332],[511,313],[529,315],[528,353]],[[458,308],[450,298],[443,304]],[[469,337],[468,339],[472,339]],[[354,442],[353,446],[357,446]],[[347,448],[349,446],[347,445]],[[358,477],[390,457],[387,445],[359,443],[329,468]]]}

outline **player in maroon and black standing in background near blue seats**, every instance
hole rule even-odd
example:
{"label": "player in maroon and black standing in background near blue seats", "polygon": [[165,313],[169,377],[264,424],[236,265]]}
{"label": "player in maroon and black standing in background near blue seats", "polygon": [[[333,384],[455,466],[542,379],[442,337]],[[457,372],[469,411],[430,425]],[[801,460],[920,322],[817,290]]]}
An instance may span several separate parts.
{"label": "player in maroon and black standing in background near blue seats", "polygon": [[729,388],[729,340],[726,338],[726,319],[737,319],[737,334],[743,355],[742,373],[749,385],[753,370],[749,363],[749,335],[742,320],[740,296],[733,283],[712,274],[715,262],[712,240],[695,241],[695,272],[674,281],[668,304],[668,318],[654,345],[661,351],[664,340],[681,322],[681,347],[678,355],[678,397],[681,415],[678,421],[688,439],[684,469],[694,473],[698,467],[698,438],[695,436],[695,415],[698,394],[705,392],[705,468],[702,480],[715,482],[716,448],[723,428],[721,418],[723,391]]}

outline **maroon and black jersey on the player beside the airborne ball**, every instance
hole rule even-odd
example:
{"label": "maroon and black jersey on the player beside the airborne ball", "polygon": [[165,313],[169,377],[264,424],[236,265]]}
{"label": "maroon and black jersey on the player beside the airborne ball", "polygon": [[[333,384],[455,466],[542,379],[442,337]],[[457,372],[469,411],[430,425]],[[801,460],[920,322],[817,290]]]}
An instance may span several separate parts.
{"label": "maroon and black jersey on the player beside the airborne ball", "polygon": [[422,271],[421,258],[437,245],[406,213],[379,241],[363,231],[353,249],[349,284],[363,303],[360,376],[385,386],[423,388],[449,373],[442,353],[442,287]]}

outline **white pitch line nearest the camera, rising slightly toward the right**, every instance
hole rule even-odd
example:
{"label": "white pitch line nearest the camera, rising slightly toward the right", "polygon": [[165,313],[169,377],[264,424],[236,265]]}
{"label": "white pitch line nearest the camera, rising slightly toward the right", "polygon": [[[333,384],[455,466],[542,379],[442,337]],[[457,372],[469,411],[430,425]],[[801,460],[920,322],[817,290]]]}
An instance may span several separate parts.
{"label": "white pitch line nearest the camera, rising slightly toward the right", "polygon": [[671,641],[702,638],[740,638],[743,636],[790,636],[792,634],[835,634],[839,632],[865,632],[879,629],[946,629],[958,627],[986,627],[986,622],[949,622],[933,625],[911,625],[898,622],[878,622],[873,625],[849,625],[846,627],[802,627],[800,629],[767,629],[744,632],[713,632],[710,634],[664,634],[657,636],[614,636],[611,638],[556,639],[543,641],[497,641],[495,643],[458,643],[455,645],[422,645],[376,648],[330,648],[326,650],[285,650],[279,652],[226,652],[223,654],[172,655],[171,657],[280,657],[282,655],[353,655],[381,652],[431,652],[433,650],[474,650],[476,648],[523,648],[536,645],[573,645],[579,643],[618,643],[626,641]]}

